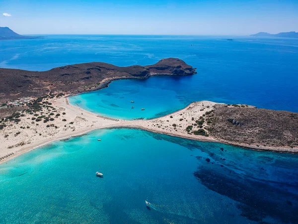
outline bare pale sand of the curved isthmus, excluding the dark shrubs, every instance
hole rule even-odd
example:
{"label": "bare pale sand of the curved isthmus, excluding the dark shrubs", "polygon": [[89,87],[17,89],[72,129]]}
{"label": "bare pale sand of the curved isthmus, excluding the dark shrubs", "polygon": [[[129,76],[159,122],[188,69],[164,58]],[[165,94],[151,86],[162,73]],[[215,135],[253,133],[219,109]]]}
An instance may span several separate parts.
{"label": "bare pale sand of the curved isthmus, excluding the dark shrubs", "polygon": [[[55,130],[49,131],[49,128],[46,127],[45,123],[39,123],[38,128],[34,128],[33,130],[36,130],[36,132],[41,132],[40,135],[34,134],[31,136],[30,134],[24,133],[19,134],[17,137],[12,137],[12,139],[4,139],[2,136],[0,137],[1,142],[4,142],[0,146],[0,155],[5,155],[8,153],[14,153],[11,156],[8,156],[5,159],[0,160],[1,163],[5,163],[8,160],[11,160],[15,158],[16,156],[19,156],[23,153],[29,152],[33,149],[42,147],[46,144],[49,144],[53,141],[57,140],[63,140],[70,137],[77,137],[80,135],[83,135],[87,132],[90,132],[95,129],[111,129],[111,128],[134,128],[134,129],[142,129],[150,132],[160,133],[160,134],[166,134],[170,136],[175,137],[181,137],[181,138],[187,138],[192,140],[199,140],[199,141],[207,141],[207,142],[218,142],[218,143],[224,143],[229,144],[237,147],[242,148],[248,148],[253,150],[266,150],[266,151],[274,151],[274,152],[284,152],[284,153],[298,153],[298,148],[282,148],[282,147],[266,147],[266,146],[256,146],[256,145],[248,145],[248,144],[241,144],[237,142],[231,142],[231,141],[225,141],[221,139],[215,139],[211,136],[202,136],[202,135],[194,135],[194,134],[188,134],[185,132],[185,125],[187,125],[187,118],[184,118],[182,121],[178,121],[181,118],[181,115],[183,113],[183,116],[189,117],[192,115],[193,112],[196,113],[196,115],[201,115],[200,110],[198,108],[203,107],[210,107],[210,110],[215,105],[219,105],[214,102],[209,101],[201,101],[201,102],[194,102],[187,106],[184,109],[181,109],[177,112],[173,112],[170,114],[167,114],[162,117],[158,118],[152,118],[152,119],[146,119],[146,120],[124,120],[124,119],[110,119],[110,117],[101,116],[96,113],[85,111],[81,108],[78,108],[74,105],[68,104],[68,97],[61,97],[53,99],[52,106],[55,108],[59,108],[60,112],[65,112],[66,114],[63,115],[61,118],[57,118],[58,120],[55,120],[55,123],[57,125],[60,125],[60,127]],[[195,109],[195,110],[190,110]],[[187,112],[191,112],[187,115]],[[203,111],[201,112],[203,113]],[[169,121],[169,117],[172,117],[171,121]],[[75,127],[65,127],[66,125],[63,119],[67,119],[68,121],[72,120],[74,122]],[[179,119],[180,118],[180,119]],[[24,119],[24,122],[26,122],[29,118]],[[29,122],[31,122],[31,119],[29,119]],[[53,121],[54,122],[54,121]],[[170,125],[170,122],[179,122],[180,126],[177,128]],[[26,125],[26,124],[22,124]],[[180,128],[180,129],[179,129]],[[26,129],[25,129],[26,130]],[[45,132],[42,132],[42,130],[45,130]],[[4,130],[5,131],[5,130]],[[11,127],[11,131],[15,131],[15,127]],[[183,132],[184,131],[184,132]],[[6,130],[8,133],[9,130]],[[31,131],[31,134],[33,132]],[[26,144],[15,144],[16,146],[13,146],[16,142],[26,142]],[[13,147],[11,147],[13,146]]]}

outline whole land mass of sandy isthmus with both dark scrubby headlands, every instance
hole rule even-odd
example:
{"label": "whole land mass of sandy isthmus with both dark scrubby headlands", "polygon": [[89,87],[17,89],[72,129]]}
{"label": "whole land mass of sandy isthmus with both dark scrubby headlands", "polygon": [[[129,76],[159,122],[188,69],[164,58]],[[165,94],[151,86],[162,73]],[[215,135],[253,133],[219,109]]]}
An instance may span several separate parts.
{"label": "whole land mass of sandy isthmus with both dark scrubby headlands", "polygon": [[0,163],[54,140],[98,128],[121,127],[298,153],[295,112],[201,101],[163,117],[122,120],[87,112],[68,102],[73,94],[107,87],[117,79],[195,73],[194,68],[174,58],[149,66],[117,67],[93,62],[45,72],[0,69]]}

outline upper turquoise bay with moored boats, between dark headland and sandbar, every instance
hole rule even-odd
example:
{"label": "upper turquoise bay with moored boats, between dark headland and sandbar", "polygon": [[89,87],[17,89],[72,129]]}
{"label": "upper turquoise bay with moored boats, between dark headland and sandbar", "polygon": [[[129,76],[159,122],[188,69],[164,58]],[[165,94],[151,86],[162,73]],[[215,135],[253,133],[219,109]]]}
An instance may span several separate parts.
{"label": "upper turquoise bay with moored boats, between dark headland and sandbar", "polygon": [[[160,89],[159,81],[165,81],[167,84],[172,81],[173,88],[169,86]],[[178,85],[175,85],[175,82],[177,82],[175,77],[161,76],[148,80],[114,81],[108,88],[70,97],[69,102],[87,111],[115,118],[153,118],[186,106],[184,97],[179,96],[174,90]],[[142,108],[145,110],[142,111]]]}

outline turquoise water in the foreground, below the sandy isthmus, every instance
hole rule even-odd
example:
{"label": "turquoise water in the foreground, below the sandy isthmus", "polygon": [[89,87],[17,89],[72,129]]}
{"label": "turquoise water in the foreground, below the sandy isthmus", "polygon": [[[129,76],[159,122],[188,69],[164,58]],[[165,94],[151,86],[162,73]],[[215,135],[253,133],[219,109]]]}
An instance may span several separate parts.
{"label": "turquoise water in the foreground, below the sandy isthmus", "polygon": [[298,222],[297,184],[298,155],[96,130],[2,164],[0,223]]}

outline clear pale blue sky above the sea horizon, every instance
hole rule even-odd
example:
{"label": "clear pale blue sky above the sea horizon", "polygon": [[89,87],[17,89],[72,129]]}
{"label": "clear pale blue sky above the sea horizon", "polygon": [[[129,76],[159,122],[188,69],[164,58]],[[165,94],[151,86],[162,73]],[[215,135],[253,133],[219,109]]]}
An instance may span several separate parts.
{"label": "clear pale blue sky above the sea horizon", "polygon": [[0,0],[0,10],[0,26],[20,34],[298,31],[298,0]]}

